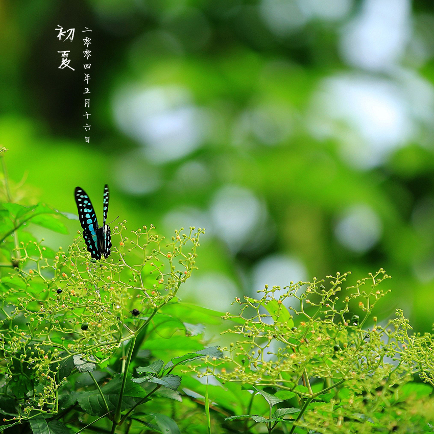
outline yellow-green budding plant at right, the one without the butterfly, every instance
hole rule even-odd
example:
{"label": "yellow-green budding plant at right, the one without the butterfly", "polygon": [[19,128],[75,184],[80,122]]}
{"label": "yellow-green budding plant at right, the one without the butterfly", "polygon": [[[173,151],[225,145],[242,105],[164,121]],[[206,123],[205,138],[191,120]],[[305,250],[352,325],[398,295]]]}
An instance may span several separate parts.
{"label": "yellow-green budding plant at right, the one without the butterfly", "polygon": [[[267,413],[228,417],[249,432],[257,424],[274,432],[432,431],[433,336],[410,335],[402,310],[379,322],[372,316],[385,296],[383,270],[342,294],[349,273],[329,283],[265,287],[260,299],[241,306],[228,333],[237,339],[220,360],[208,360],[199,376],[239,382],[262,399]],[[367,283],[369,285],[367,285]],[[368,287],[366,287],[368,286]],[[412,382],[419,374],[423,381]],[[262,398],[260,398],[262,396]],[[212,396],[210,397],[212,399]]]}

